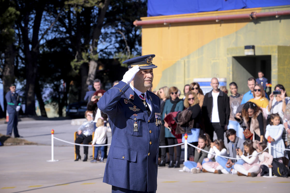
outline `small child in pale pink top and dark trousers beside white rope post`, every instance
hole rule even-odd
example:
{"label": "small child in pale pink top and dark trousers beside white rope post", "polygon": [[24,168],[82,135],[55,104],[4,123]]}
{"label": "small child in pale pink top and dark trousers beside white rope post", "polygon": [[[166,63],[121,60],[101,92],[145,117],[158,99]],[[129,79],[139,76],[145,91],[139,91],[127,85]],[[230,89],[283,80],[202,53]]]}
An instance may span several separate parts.
{"label": "small child in pale pink top and dark trousers beside white rope post", "polygon": [[[257,152],[262,152],[265,148],[267,148],[267,144],[261,142],[259,144],[259,148],[257,148]],[[273,156],[268,153],[268,149],[258,155],[260,161],[261,168],[261,176],[269,176],[269,168],[272,168]]]}

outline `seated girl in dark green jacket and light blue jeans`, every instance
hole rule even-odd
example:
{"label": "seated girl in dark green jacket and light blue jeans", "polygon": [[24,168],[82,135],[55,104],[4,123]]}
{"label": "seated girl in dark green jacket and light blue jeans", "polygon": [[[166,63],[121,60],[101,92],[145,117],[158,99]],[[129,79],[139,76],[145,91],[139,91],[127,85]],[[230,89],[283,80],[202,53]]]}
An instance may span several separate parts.
{"label": "seated girl in dark green jacket and light blue jeans", "polygon": [[[209,137],[209,134],[204,133],[203,135],[200,135],[198,138],[198,148],[201,148],[203,150],[209,151],[211,145],[211,140]],[[184,161],[183,162],[183,171],[184,172],[192,172],[193,174],[195,173],[200,173],[202,170],[202,164],[203,159],[207,157],[207,152],[204,152],[198,148],[195,148],[194,152],[194,161]]]}

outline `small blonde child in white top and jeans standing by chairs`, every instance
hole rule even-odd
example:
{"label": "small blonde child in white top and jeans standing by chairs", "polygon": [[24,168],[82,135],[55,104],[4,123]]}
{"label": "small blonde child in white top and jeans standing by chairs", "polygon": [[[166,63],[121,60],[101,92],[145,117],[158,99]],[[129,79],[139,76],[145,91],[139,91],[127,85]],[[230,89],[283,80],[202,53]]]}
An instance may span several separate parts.
{"label": "small blonde child in white top and jeans standing by chairs", "polygon": [[[107,132],[112,132],[110,127],[104,126],[104,119],[103,118],[98,118],[96,126],[97,126],[97,128],[95,129],[92,146],[94,146],[94,144],[96,144],[96,145],[105,144]],[[104,149],[105,149],[105,146],[95,146],[95,156],[94,156],[94,159],[91,161],[91,163],[97,162],[97,156],[98,156],[99,150],[101,150],[100,162],[104,162],[104,156],[105,156]]]}

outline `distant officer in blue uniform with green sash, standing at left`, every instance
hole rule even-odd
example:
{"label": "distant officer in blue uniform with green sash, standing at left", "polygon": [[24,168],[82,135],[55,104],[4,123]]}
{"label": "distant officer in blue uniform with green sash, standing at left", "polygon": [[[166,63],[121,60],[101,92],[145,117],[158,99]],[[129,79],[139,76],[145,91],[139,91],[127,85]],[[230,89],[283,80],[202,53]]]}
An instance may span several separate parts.
{"label": "distant officer in blue uniform with green sash, standing at left", "polygon": [[9,87],[10,91],[6,93],[5,98],[7,101],[7,109],[6,111],[8,112],[9,115],[9,121],[7,124],[7,133],[6,135],[12,134],[12,128],[14,131],[14,137],[21,137],[18,134],[18,129],[17,129],[17,124],[18,124],[18,111],[20,110],[20,102],[19,102],[19,97],[18,94],[15,93],[16,86],[15,84],[11,84]]}

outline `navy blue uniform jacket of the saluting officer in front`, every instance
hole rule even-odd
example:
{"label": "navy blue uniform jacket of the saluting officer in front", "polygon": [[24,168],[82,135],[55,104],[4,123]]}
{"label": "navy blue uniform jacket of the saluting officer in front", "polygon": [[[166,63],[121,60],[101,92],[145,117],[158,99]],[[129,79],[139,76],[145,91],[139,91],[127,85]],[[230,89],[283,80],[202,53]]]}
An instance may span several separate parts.
{"label": "navy blue uniform jacket of the saluting officer in front", "polygon": [[149,91],[146,96],[152,106],[150,117],[138,95],[122,81],[104,93],[97,103],[108,115],[112,129],[105,183],[136,191],[157,189],[160,99]]}

